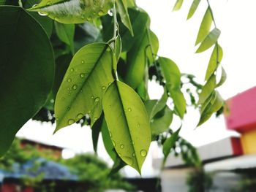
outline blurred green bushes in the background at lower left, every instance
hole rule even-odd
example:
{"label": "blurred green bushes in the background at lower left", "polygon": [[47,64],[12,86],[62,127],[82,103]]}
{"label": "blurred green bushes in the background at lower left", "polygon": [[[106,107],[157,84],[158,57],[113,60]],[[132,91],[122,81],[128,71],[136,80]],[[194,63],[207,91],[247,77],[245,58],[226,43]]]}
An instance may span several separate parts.
{"label": "blurred green bushes in the background at lower left", "polygon": [[[83,188],[83,191],[102,191],[108,188],[133,189],[132,185],[124,182],[120,174],[110,174],[108,165],[96,155],[80,154],[73,158],[63,159],[56,155],[53,150],[37,150],[37,147],[32,145],[22,145],[20,139],[15,139],[10,150],[0,158],[0,169],[12,172],[17,169],[17,166],[22,166],[31,161],[31,158],[45,158],[48,161],[55,161],[67,166],[72,174],[78,176],[81,183],[80,188]],[[33,166],[28,171],[37,175],[37,170],[41,164],[40,161],[33,162]],[[34,186],[41,191],[45,187],[45,184],[42,185],[44,176],[45,174],[42,172],[36,177],[23,176],[20,181],[25,186]],[[49,188],[49,186],[46,187]]]}

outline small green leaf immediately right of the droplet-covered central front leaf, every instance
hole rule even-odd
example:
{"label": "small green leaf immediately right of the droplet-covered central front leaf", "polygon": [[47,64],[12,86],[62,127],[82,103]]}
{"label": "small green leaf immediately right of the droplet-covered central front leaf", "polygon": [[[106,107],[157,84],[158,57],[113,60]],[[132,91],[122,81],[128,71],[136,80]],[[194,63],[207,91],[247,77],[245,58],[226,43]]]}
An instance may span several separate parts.
{"label": "small green leaf immediately right of the droplet-covered central front leaf", "polygon": [[173,121],[173,111],[169,107],[165,105],[163,112],[162,117],[151,120],[151,134],[153,137],[167,131]]}

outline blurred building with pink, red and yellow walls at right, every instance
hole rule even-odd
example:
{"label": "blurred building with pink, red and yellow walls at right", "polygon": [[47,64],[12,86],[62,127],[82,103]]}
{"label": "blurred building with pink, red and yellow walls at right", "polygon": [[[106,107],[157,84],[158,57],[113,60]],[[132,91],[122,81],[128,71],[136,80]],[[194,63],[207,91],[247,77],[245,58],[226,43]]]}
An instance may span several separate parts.
{"label": "blurred building with pink, red and yellow walls at right", "polygon": [[[227,100],[225,123],[241,137],[229,137],[198,147],[204,172],[211,175],[209,191],[256,191],[256,87]],[[159,168],[162,159],[154,159]],[[187,177],[195,169],[169,155],[161,174],[162,191],[187,192]],[[244,187],[244,189],[243,189]]]}

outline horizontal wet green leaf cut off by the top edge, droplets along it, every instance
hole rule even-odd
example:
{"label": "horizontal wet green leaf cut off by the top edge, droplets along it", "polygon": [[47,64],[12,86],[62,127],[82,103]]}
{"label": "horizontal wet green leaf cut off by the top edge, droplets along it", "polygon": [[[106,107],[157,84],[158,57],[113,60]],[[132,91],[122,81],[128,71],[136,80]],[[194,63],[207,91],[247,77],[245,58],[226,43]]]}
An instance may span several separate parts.
{"label": "horizontal wet green leaf cut off by the top edge, droplets along it", "polygon": [[113,7],[114,0],[42,0],[37,6],[28,9],[32,12],[42,12],[59,23],[84,23],[106,15]]}

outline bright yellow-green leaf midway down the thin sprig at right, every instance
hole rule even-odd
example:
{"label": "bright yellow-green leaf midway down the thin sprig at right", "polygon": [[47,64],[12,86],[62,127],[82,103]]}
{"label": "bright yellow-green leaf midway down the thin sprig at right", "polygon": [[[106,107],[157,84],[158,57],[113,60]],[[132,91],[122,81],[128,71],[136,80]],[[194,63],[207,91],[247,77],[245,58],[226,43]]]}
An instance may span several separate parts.
{"label": "bright yellow-green leaf midway down the thin sprig at right", "polygon": [[[222,57],[223,57],[222,47],[220,47],[219,45],[215,45],[214,50],[211,53],[211,58],[208,64],[205,80],[208,80],[211,77],[211,74],[213,74],[216,71],[219,63],[222,61]],[[218,61],[217,61],[217,58],[218,58]]]}

